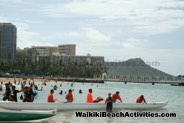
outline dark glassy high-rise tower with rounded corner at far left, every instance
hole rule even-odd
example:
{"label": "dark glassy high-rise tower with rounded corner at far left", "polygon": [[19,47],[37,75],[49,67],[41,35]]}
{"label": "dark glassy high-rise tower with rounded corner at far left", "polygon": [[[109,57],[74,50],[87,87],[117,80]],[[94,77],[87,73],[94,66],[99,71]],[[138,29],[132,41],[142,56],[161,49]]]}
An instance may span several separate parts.
{"label": "dark glassy high-rise tower with rounded corner at far left", "polygon": [[16,59],[17,28],[11,23],[0,23],[0,61]]}

